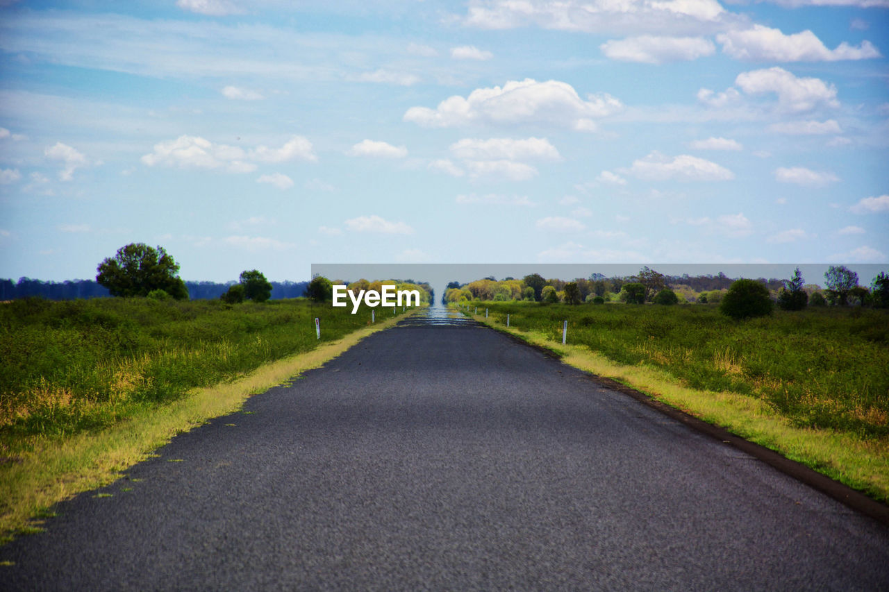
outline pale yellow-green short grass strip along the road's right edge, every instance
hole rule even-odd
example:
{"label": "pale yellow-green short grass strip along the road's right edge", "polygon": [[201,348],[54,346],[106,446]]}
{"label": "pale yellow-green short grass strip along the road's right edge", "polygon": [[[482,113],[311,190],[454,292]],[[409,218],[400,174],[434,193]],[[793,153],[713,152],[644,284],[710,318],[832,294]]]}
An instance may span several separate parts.
{"label": "pale yellow-green short grass strip along the road's right edge", "polygon": [[795,425],[762,399],[730,391],[690,388],[651,364],[621,364],[584,345],[553,340],[545,332],[506,327],[500,317],[472,315],[496,330],[554,351],[566,364],[617,380],[694,417],[796,460],[822,475],[889,503],[889,446],[885,438]]}

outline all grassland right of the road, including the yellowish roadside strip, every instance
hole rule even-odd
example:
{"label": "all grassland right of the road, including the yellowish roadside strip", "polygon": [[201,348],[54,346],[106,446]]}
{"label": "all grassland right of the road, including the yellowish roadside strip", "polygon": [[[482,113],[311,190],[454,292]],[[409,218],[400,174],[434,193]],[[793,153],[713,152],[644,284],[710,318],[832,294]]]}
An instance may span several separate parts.
{"label": "all grassland right of the road, including the yellowish roadside strip", "polygon": [[889,502],[889,311],[777,311],[735,322],[701,305],[476,305],[477,320],[568,364]]}

